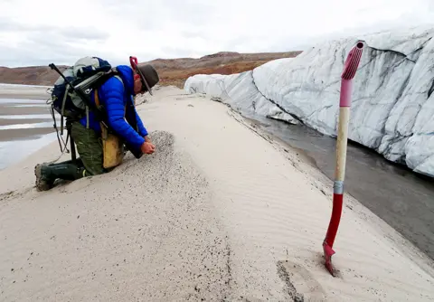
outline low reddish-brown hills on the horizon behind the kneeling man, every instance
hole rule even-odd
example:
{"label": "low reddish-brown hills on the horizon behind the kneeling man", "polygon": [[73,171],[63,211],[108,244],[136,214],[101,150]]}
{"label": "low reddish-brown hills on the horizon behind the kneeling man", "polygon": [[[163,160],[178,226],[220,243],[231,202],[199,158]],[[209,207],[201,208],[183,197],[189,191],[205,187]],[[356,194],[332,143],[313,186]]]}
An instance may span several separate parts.
{"label": "low reddish-brown hills on the horizon behind the kneeling man", "polygon": [[[183,88],[184,81],[194,74],[231,74],[250,71],[267,61],[293,58],[299,53],[301,52],[217,52],[199,59],[156,59],[140,64],[152,64],[160,75],[161,85],[175,85]],[[59,66],[61,71],[66,68],[67,66]],[[58,78],[59,75],[48,66],[0,67],[0,83],[50,86]]]}

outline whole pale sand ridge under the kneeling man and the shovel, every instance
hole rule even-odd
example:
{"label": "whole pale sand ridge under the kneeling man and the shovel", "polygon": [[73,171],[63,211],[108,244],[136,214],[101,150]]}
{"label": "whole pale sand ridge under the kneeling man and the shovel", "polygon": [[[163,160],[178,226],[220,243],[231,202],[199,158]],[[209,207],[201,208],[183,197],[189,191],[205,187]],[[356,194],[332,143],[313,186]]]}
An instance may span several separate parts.
{"label": "whole pale sand ridge under the kneeling man and the shovel", "polygon": [[331,184],[222,104],[162,89],[139,107],[157,152],[109,175],[33,188],[0,174],[0,300],[434,300],[434,273],[347,198],[332,278]]}

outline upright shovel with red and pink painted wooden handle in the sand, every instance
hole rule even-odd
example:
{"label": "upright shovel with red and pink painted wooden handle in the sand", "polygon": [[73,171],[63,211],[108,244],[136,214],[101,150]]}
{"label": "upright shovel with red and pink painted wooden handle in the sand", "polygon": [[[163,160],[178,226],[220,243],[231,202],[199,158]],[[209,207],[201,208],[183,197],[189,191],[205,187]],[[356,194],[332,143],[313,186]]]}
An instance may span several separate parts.
{"label": "upright shovel with red and pink painted wooden handle in the sand", "polygon": [[323,242],[325,268],[335,276],[332,256],[335,254],[333,243],[341,221],[342,203],[344,201],[344,176],[346,163],[346,145],[348,140],[348,121],[350,118],[351,92],[353,79],[362,58],[363,42],[357,42],[348,53],[341,75],[341,98],[339,102],[339,124],[336,146],[335,184],[333,186],[333,210],[328,230]]}

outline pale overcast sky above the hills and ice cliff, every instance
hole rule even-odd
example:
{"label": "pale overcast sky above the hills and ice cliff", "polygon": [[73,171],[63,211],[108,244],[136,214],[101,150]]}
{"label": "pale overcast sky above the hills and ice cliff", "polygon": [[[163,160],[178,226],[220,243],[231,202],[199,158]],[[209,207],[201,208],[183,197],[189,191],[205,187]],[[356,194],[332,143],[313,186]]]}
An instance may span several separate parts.
{"label": "pale overcast sky above the hills and ice cliff", "polygon": [[[434,0],[0,0],[0,66],[286,52],[434,23]],[[62,6],[64,5],[64,6]],[[434,25],[433,25],[434,26]]]}

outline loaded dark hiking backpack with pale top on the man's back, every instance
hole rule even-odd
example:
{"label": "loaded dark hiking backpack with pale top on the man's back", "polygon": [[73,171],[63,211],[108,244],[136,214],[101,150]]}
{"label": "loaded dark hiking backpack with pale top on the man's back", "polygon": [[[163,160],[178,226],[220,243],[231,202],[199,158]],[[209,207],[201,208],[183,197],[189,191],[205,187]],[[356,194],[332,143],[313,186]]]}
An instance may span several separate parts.
{"label": "loaded dark hiking backpack with pale top on the man's back", "polygon": [[[83,118],[89,113],[89,109],[95,110],[88,104],[92,90],[117,75],[118,71],[110,65],[109,61],[98,57],[80,58],[74,65],[63,71],[59,79],[54,82],[51,95],[52,109],[57,111],[61,118],[70,120]],[[120,77],[118,78],[120,80]]]}

